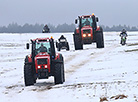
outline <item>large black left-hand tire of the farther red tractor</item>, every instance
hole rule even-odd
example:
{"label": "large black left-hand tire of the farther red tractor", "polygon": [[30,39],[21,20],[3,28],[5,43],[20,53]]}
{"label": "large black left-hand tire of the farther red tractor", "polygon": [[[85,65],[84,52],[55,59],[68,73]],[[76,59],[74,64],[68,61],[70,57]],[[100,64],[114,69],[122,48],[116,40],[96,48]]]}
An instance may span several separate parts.
{"label": "large black left-hand tire of the farther red tractor", "polygon": [[74,38],[75,50],[82,50],[83,44],[81,42],[81,38],[80,38],[79,34],[73,34],[73,38]]}

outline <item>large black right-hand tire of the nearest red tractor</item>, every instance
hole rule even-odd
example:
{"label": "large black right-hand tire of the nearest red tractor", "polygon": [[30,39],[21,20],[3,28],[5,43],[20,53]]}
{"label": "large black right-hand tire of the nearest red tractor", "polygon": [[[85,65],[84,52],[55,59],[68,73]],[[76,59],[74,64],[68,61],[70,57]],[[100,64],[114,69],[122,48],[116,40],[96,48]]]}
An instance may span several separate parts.
{"label": "large black right-hand tire of the nearest red tractor", "polygon": [[[62,60],[63,60],[63,57],[61,55],[60,61],[62,61]],[[54,73],[54,81],[55,81],[55,84],[63,84],[63,82],[65,82],[64,61],[63,61],[63,63],[59,63],[59,62],[56,63],[55,73]]]}

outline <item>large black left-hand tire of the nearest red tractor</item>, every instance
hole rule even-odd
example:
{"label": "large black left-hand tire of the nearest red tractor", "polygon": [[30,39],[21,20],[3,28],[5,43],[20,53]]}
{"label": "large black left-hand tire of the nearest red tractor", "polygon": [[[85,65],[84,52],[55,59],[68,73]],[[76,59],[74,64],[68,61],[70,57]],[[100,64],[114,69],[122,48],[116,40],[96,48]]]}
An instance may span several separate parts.
{"label": "large black left-hand tire of the nearest red tractor", "polygon": [[34,85],[36,80],[34,79],[33,69],[31,64],[24,65],[24,81],[25,86]]}

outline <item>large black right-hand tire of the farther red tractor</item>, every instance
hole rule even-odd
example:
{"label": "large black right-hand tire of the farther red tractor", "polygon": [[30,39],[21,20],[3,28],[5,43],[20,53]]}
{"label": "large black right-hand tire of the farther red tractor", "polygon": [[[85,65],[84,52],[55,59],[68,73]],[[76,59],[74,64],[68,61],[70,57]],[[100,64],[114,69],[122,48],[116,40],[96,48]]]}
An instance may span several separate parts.
{"label": "large black right-hand tire of the farther red tractor", "polygon": [[97,48],[104,48],[103,30],[96,32],[96,46]]}

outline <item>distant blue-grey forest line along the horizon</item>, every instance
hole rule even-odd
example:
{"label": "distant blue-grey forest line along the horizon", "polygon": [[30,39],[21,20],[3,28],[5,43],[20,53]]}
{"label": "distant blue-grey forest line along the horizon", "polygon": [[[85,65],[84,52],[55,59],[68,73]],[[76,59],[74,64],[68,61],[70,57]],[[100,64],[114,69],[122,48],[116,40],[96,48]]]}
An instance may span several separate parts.
{"label": "distant blue-grey forest line along the horizon", "polygon": [[[125,28],[127,31],[138,31],[138,26],[127,26],[127,25],[113,25],[112,27],[101,25],[104,31],[121,31]],[[24,24],[23,26],[17,23],[9,24],[8,26],[0,27],[0,33],[41,33],[44,24]],[[59,24],[57,26],[48,24],[50,31],[55,32],[73,32],[75,29],[75,24]]]}

